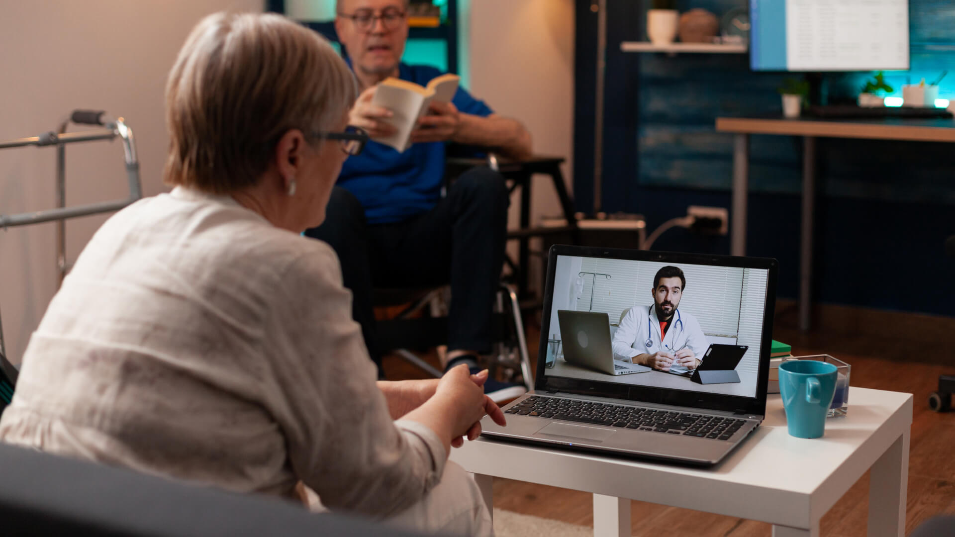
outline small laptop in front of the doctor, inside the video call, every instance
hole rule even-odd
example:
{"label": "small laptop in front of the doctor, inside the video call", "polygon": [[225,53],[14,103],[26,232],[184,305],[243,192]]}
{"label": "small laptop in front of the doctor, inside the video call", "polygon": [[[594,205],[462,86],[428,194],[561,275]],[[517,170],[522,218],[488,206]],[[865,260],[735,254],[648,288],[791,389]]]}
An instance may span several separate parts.
{"label": "small laptop in front of the doctor, inside the video call", "polygon": [[557,311],[563,339],[563,359],[607,375],[629,375],[652,371],[647,366],[613,359],[610,344],[610,317],[598,311]]}

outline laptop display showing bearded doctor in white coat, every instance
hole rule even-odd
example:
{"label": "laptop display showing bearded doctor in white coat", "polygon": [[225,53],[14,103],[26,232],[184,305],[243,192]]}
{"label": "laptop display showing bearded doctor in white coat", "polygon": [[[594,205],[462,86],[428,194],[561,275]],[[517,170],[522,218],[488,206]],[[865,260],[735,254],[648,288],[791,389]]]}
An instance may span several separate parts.
{"label": "laptop display showing bearded doctor in white coat", "polygon": [[[638,259],[620,259],[569,255],[584,248],[563,248],[551,256],[546,340],[541,334],[544,376],[757,397],[760,351],[769,343],[764,323],[772,318],[768,302],[775,300],[768,292],[770,260],[747,267],[745,258],[696,256],[704,263],[694,263],[680,261],[693,259],[683,254],[631,252]],[[727,349],[732,356],[723,360],[717,351]],[[708,370],[735,375],[701,379]]]}

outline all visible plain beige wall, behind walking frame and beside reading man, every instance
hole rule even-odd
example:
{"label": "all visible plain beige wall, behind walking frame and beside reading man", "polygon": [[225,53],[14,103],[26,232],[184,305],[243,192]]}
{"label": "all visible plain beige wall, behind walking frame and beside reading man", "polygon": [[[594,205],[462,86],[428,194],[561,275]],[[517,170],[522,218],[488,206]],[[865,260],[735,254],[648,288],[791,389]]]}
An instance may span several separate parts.
{"label": "all visible plain beige wall, behind walking frame and beside reading man", "polygon": [[[295,4],[295,2],[291,2]],[[462,2],[462,39],[471,90],[500,114],[520,118],[534,150],[567,158],[573,126],[572,0]],[[161,183],[167,145],[162,91],[182,41],[202,15],[261,11],[262,0],[31,0],[4,2],[0,16],[0,140],[53,130],[74,108],[127,119],[138,141],[143,192]],[[72,127],[76,129],[76,127]],[[0,150],[0,213],[53,207],[55,150]],[[118,142],[67,146],[67,203],[125,196]],[[532,218],[559,214],[557,197],[535,179]],[[512,226],[518,202],[511,207]],[[74,260],[107,216],[67,224]],[[0,315],[11,361],[19,363],[55,291],[53,224],[0,232]],[[513,248],[513,246],[512,246]],[[540,274],[533,276],[536,281]]]}

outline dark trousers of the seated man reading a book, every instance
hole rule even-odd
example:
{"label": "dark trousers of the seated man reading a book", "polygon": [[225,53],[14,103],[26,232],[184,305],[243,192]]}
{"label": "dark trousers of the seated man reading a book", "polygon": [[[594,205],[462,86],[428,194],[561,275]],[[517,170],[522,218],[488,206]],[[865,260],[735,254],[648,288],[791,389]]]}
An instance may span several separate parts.
{"label": "dark trousers of the seated man reading a book", "polygon": [[371,359],[381,373],[372,288],[414,289],[451,284],[448,349],[486,353],[507,233],[507,186],[486,167],[462,174],[430,211],[393,224],[368,224],[358,200],[331,192],[325,223],[306,235],[329,243],[352,293]]}

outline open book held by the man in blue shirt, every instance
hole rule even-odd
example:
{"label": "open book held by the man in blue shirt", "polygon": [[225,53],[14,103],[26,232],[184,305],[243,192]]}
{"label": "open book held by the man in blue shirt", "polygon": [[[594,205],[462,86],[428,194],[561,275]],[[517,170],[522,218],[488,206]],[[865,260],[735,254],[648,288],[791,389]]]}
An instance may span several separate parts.
{"label": "open book held by the man in blue shirt", "polygon": [[396,132],[392,136],[375,138],[379,143],[389,145],[403,153],[411,146],[414,125],[418,118],[428,113],[431,101],[451,102],[457,91],[458,75],[440,75],[428,82],[428,86],[419,86],[414,82],[400,78],[386,78],[378,84],[371,97],[371,103],[391,110],[394,116],[382,119],[393,125]]}

